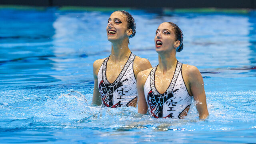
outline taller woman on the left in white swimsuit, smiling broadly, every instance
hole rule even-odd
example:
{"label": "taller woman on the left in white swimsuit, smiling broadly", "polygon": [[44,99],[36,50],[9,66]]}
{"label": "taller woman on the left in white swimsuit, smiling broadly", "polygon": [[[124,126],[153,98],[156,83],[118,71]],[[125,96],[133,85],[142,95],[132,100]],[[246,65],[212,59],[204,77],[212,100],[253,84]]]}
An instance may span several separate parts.
{"label": "taller woman on the left in white swimsuit, smiling broadly", "polygon": [[113,12],[106,28],[111,54],[93,64],[94,92],[92,104],[103,107],[137,105],[137,74],[152,68],[146,58],[135,56],[128,44],[136,31],[134,18],[126,11]]}

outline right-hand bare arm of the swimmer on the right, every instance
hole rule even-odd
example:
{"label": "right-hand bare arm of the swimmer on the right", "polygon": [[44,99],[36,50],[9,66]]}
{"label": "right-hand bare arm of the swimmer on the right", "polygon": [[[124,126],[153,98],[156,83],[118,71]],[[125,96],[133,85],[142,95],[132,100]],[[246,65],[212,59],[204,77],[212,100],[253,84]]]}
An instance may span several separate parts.
{"label": "right-hand bare arm of the swimmer on the right", "polygon": [[190,90],[196,102],[196,109],[199,112],[200,119],[206,119],[209,115],[204,91],[204,81],[201,73],[195,66],[189,68]]}

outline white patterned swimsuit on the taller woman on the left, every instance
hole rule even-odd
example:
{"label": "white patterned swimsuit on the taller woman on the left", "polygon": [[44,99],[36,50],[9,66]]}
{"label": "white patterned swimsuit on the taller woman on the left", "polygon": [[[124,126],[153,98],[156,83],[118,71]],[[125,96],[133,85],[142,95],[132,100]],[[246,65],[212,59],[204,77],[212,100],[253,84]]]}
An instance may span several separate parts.
{"label": "white patterned swimsuit on the taller woman on the left", "polygon": [[130,54],[124,68],[112,84],[106,78],[108,58],[104,60],[98,72],[98,87],[103,102],[102,106],[116,108],[133,105],[137,102],[138,96],[133,71],[135,55]]}

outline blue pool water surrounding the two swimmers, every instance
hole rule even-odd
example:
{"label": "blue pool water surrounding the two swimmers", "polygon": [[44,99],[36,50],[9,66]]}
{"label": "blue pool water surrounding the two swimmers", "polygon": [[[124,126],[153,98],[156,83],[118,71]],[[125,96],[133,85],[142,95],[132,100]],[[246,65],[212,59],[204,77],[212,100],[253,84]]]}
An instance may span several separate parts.
{"label": "blue pool water surrounding the two swimmers", "polygon": [[199,120],[194,104],[183,120],[90,105],[112,11],[0,8],[0,143],[256,142],[256,13],[129,12],[129,47],[152,66],[158,25],[180,26],[176,56],[202,73],[209,118]]}

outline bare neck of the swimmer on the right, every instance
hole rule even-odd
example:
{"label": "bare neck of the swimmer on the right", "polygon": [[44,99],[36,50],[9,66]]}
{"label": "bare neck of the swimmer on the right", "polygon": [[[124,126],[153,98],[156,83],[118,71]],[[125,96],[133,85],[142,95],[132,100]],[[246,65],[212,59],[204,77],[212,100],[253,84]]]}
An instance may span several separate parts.
{"label": "bare neck of the swimmer on the right", "polygon": [[158,54],[158,70],[166,74],[168,70],[175,70],[177,59],[175,52],[166,52],[165,54]]}

